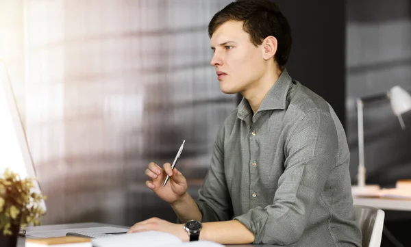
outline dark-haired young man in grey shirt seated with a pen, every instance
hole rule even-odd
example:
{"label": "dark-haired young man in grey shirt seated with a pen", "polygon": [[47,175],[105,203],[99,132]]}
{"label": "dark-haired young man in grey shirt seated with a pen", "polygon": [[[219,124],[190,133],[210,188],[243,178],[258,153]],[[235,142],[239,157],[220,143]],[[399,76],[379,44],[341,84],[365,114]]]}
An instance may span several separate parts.
{"label": "dark-haired young man in grey shirt seated with a pen", "polygon": [[188,223],[151,218],[129,232],[221,244],[361,246],[345,132],[332,107],[288,75],[290,27],[277,5],[230,3],[208,31],[221,90],[244,99],[217,135],[198,200],[170,164],[145,171],[147,187]]}

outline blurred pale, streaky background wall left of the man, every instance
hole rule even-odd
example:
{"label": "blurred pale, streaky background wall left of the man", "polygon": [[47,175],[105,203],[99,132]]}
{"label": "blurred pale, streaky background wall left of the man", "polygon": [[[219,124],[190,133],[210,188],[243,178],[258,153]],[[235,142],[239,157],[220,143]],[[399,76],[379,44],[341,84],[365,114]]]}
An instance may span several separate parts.
{"label": "blurred pale, streaky background wall left of the man", "polygon": [[216,132],[236,107],[210,66],[207,33],[227,3],[1,1],[1,59],[21,88],[48,197],[44,224],[175,220],[145,187],[144,170],[173,161],[183,140],[179,169],[196,196]]}

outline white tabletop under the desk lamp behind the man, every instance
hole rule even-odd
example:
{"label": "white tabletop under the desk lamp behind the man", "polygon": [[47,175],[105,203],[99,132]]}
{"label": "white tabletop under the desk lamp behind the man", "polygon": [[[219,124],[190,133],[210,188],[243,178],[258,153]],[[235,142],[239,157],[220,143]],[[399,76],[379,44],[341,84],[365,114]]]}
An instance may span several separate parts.
{"label": "white tabletop under the desk lamp behind the man", "polygon": [[394,211],[411,211],[411,200],[353,197],[354,205],[366,205]]}

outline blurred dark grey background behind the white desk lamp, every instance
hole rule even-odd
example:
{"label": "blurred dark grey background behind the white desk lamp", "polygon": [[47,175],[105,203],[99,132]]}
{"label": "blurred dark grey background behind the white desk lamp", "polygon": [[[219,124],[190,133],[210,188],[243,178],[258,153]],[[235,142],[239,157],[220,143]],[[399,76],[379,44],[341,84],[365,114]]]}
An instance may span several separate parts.
{"label": "blurred dark grey background behind the white desk lamp", "polygon": [[[411,1],[347,0],[346,131],[353,183],[358,169],[356,98],[396,85],[411,91]],[[395,187],[398,179],[411,179],[410,114],[403,120],[405,130],[388,100],[364,105],[366,183]],[[411,213],[384,211],[382,246],[411,246]]]}

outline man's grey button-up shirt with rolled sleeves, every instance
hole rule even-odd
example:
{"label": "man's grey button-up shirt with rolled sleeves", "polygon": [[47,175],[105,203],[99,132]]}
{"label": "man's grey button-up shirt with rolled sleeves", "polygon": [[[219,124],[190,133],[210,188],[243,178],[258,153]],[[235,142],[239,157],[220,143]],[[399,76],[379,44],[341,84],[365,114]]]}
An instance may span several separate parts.
{"label": "man's grey button-up shirt with rolled sleeves", "polygon": [[361,246],[343,126],[284,70],[253,114],[242,99],[199,190],[203,222],[239,220],[254,244]]}

